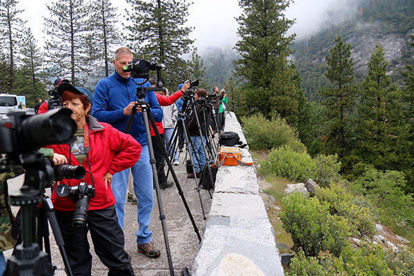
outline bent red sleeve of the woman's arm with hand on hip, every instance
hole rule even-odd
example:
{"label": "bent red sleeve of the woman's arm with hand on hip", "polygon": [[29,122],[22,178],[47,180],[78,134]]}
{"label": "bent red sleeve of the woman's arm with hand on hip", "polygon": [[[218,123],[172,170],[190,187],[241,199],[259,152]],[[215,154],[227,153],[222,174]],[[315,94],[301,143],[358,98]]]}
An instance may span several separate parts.
{"label": "bent red sleeve of the woman's arm with hand on hip", "polygon": [[112,128],[112,126],[107,125],[105,128],[110,131],[110,149],[117,152],[108,170],[113,175],[115,172],[130,168],[137,163],[141,155],[141,145],[131,135]]}

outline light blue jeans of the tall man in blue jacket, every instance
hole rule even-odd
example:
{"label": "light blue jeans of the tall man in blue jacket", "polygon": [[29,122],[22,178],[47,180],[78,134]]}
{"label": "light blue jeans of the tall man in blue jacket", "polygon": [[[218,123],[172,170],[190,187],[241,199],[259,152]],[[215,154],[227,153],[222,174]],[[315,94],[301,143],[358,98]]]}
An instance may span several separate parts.
{"label": "light blue jeans of the tall man in blue jacket", "polygon": [[[137,244],[151,242],[152,232],[148,230],[151,220],[152,207],[154,206],[154,190],[152,184],[152,168],[148,145],[141,145],[141,156],[132,166],[134,177],[134,191],[137,196],[137,218],[139,229],[137,230]],[[128,188],[128,176],[130,169],[115,173],[112,177],[112,193],[115,197],[115,210],[118,223],[124,229],[124,205],[126,189]]]}

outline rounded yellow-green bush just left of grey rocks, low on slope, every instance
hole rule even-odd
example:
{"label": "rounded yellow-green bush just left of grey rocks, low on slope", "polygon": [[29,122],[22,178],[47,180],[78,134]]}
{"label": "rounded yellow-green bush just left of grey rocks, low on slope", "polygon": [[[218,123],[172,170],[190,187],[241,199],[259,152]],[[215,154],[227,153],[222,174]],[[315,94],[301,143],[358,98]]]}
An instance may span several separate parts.
{"label": "rounded yellow-green bush just left of grey rocks, low on slope", "polygon": [[284,197],[285,211],[281,215],[284,229],[293,240],[293,250],[304,250],[306,256],[317,256],[328,250],[339,256],[348,245],[350,235],[348,221],[344,217],[331,215],[329,206],[317,198],[305,198],[300,193]]}

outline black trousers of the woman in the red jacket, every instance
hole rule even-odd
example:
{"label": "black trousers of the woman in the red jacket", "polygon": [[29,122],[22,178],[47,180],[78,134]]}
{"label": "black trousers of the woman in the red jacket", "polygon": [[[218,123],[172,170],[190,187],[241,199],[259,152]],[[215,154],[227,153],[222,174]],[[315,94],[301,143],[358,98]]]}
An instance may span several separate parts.
{"label": "black trousers of the woman in the red jacket", "polygon": [[92,255],[89,252],[88,230],[95,253],[109,268],[108,275],[135,275],[131,257],[124,250],[124,232],[118,224],[115,207],[89,210],[87,227],[73,227],[73,213],[55,210],[73,275],[91,273]]}

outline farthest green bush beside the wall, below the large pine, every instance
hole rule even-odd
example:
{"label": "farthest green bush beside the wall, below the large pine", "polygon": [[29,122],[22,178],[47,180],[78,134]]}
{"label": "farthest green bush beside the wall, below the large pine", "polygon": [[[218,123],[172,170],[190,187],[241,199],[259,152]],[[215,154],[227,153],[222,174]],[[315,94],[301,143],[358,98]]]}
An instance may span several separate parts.
{"label": "farthest green bush beside the wall, below the large pine", "polygon": [[261,114],[242,117],[242,126],[252,150],[270,150],[284,145],[296,151],[305,150],[295,128],[277,115],[273,115],[270,121]]}

